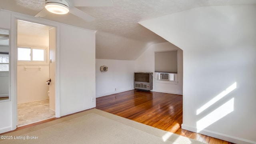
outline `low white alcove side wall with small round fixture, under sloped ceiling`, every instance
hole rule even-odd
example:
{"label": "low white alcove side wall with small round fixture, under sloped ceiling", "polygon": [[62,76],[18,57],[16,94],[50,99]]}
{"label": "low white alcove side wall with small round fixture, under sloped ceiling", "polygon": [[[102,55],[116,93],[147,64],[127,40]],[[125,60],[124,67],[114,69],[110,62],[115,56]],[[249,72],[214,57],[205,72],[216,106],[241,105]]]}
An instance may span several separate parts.
{"label": "low white alcove side wall with small round fixture, under sloped ceiling", "polygon": [[[100,72],[100,66],[108,66]],[[96,59],[96,98],[134,89],[134,60]]]}

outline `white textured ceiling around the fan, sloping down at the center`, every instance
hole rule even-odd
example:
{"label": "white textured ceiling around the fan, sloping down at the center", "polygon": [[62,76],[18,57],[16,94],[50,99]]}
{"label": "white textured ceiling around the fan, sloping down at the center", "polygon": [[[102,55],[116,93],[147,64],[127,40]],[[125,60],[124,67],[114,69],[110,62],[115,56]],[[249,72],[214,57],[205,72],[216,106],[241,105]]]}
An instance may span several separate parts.
{"label": "white textured ceiling around the fan, sloping down at the center", "polygon": [[[67,0],[68,1],[68,0]],[[256,4],[256,0],[112,0],[113,7],[77,7],[95,18],[48,14],[44,19],[96,32],[96,58],[135,60],[150,45],[166,42],[138,22],[200,6]],[[35,16],[44,0],[0,0],[2,9]]]}

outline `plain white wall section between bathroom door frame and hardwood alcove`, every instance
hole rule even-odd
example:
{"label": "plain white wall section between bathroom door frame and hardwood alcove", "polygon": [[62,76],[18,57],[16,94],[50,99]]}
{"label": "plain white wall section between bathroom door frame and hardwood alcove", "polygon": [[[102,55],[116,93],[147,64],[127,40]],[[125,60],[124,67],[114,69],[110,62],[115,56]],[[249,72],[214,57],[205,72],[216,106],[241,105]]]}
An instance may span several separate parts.
{"label": "plain white wall section between bathroom door frame and hardwood alcove", "polygon": [[60,25],[60,104],[61,116],[96,107],[94,31]]}

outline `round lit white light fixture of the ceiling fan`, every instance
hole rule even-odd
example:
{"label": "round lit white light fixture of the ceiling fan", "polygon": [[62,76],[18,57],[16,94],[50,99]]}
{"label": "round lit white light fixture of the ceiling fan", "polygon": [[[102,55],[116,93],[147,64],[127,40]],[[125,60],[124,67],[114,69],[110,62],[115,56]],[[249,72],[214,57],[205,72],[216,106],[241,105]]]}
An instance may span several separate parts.
{"label": "round lit white light fixture of the ceiling fan", "polygon": [[69,12],[69,5],[65,0],[46,0],[45,8],[54,14],[67,14]]}

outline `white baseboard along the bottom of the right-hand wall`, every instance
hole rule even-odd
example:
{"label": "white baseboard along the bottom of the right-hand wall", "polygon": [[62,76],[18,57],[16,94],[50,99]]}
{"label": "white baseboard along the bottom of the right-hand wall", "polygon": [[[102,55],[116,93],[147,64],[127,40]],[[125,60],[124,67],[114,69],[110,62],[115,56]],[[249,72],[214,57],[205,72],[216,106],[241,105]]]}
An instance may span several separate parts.
{"label": "white baseboard along the bottom of the right-hand wall", "polygon": [[[182,124],[181,125],[181,128],[184,129],[184,130],[189,130],[191,132],[197,132],[198,129],[196,127],[193,127],[193,126],[188,126],[188,125],[185,125],[185,124]],[[254,141],[251,141],[251,140],[246,140],[246,139],[243,139],[243,138],[238,138],[238,137],[234,137],[234,136],[230,136],[230,135],[227,135],[227,134],[222,134],[222,133],[219,133],[219,132],[214,132],[214,131],[211,131],[211,130],[201,130],[200,132],[197,132],[199,134],[204,134],[206,136],[211,136],[213,138],[218,138],[220,140],[226,140],[228,142],[233,142],[233,143],[236,143],[236,144],[256,144],[256,142]]]}

